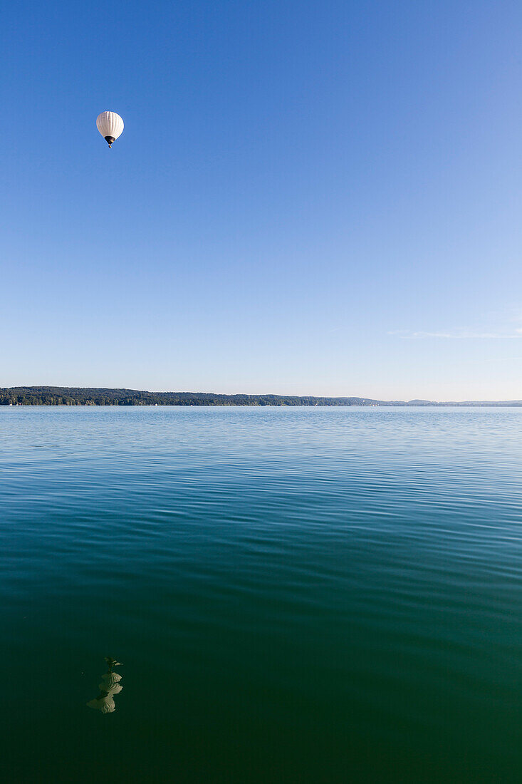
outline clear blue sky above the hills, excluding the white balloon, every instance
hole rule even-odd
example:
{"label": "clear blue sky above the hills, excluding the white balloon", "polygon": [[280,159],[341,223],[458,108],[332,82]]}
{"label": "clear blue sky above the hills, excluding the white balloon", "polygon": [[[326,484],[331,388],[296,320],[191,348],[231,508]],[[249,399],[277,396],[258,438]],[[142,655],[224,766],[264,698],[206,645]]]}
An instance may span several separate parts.
{"label": "clear blue sky above the hills, excluding the white balloon", "polygon": [[5,5],[0,386],[522,397],[521,40],[502,0]]}

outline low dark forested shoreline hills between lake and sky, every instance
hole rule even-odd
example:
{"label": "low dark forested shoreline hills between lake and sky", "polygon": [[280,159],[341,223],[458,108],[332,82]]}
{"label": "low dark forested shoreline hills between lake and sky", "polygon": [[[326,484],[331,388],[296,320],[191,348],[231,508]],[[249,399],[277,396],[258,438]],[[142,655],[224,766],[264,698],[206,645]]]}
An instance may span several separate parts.
{"label": "low dark forested shoreline hills between lake and sky", "polygon": [[298,397],[277,394],[146,392],[96,387],[5,387],[0,405],[522,405],[512,401],[435,403],[427,400],[382,401],[368,397]]}

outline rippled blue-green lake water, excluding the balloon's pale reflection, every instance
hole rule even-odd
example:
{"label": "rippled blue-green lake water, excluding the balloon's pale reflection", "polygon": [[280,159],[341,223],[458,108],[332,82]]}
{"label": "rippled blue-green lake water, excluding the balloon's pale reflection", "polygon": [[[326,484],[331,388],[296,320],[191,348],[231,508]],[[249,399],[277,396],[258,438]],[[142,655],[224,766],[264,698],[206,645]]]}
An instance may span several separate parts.
{"label": "rippled blue-green lake water, excluding the balloon's pale reflection", "polygon": [[3,780],[522,780],[522,408],[0,408],[0,447]]}

